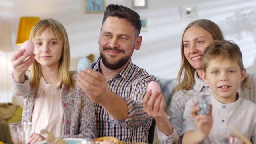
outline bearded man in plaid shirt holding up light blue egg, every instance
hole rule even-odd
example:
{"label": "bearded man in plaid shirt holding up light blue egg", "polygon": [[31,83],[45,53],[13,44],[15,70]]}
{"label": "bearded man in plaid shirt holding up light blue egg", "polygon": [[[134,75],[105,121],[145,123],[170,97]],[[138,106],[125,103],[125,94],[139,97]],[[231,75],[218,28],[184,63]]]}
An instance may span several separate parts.
{"label": "bearded man in plaid shirt holding up light blue egg", "polygon": [[130,143],[148,143],[152,118],[143,110],[142,99],[150,81],[144,69],[132,63],[139,50],[141,20],[138,13],[110,4],[104,12],[98,40],[100,57],[78,72],[77,83],[95,103],[98,137],[113,136]]}

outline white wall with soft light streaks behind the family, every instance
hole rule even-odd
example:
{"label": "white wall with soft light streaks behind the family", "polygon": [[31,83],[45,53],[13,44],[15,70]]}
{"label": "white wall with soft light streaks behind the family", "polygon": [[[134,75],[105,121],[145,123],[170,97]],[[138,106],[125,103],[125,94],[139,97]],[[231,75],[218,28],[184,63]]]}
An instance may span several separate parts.
{"label": "white wall with soft light streaks behind the family", "polygon": [[[122,4],[132,7],[132,0],[105,1],[106,5]],[[76,68],[76,62],[80,57],[92,53],[96,59],[98,58],[97,41],[103,14],[85,14],[84,5],[85,0],[0,1],[0,21],[10,23],[11,46],[8,50],[12,51],[5,52],[0,49],[0,68],[2,68],[0,102],[12,101],[10,80],[8,80],[12,72],[10,57],[13,51],[19,48],[15,42],[19,18],[22,16],[54,18],[65,26],[70,40],[72,69]],[[180,18],[179,6],[198,6],[198,17]],[[180,43],[183,30],[189,22],[206,18],[216,22],[222,28],[226,39],[234,40],[240,46],[244,65],[248,68],[248,72],[255,73],[256,68],[252,65],[256,55],[256,14],[255,11],[251,12],[255,7],[255,0],[148,0],[148,9],[136,10],[140,16],[148,16],[150,25],[148,32],[141,32],[142,46],[140,50],[134,51],[132,60],[150,74],[162,78],[176,78],[180,66]],[[250,25],[243,27],[244,21],[250,21],[250,19],[251,22],[247,22]],[[236,20],[236,22],[228,22],[228,20]],[[254,32],[254,34],[248,32]]]}

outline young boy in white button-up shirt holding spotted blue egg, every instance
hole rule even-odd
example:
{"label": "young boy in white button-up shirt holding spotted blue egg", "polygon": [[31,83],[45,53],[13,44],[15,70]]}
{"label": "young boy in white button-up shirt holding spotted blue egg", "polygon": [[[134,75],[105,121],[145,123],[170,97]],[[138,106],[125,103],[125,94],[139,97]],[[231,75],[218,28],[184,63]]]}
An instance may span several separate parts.
{"label": "young boy in white button-up shirt holding spotted blue egg", "polygon": [[205,50],[202,64],[202,79],[212,90],[212,95],[204,98],[210,104],[210,113],[197,114],[198,98],[187,102],[182,144],[233,137],[229,125],[256,144],[256,104],[237,92],[246,75],[240,48],[233,42],[216,40]]}

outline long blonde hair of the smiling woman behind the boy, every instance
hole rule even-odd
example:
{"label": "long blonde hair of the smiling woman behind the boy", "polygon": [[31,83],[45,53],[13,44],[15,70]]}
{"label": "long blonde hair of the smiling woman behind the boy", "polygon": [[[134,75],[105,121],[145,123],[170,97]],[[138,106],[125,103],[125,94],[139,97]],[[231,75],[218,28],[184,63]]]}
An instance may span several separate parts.
{"label": "long blonde hair of the smiling woman behind the boy", "polygon": [[[174,92],[172,93],[172,96],[175,92],[177,92],[178,90],[181,90],[184,94],[187,94],[186,92],[184,92],[184,90],[190,90],[193,88],[194,86],[194,73],[196,71],[196,69],[191,66],[191,64],[188,62],[188,60],[186,59],[185,55],[184,55],[184,45],[183,45],[183,36],[184,33],[186,32],[186,30],[188,28],[190,28],[191,26],[199,26],[200,28],[203,28],[204,30],[210,32],[210,34],[212,34],[214,40],[224,40],[224,36],[222,34],[222,31],[220,29],[220,27],[215,24],[214,22],[210,21],[210,20],[206,20],[206,19],[199,19],[199,20],[195,20],[193,22],[191,22],[190,24],[188,24],[188,26],[185,28],[183,35],[182,35],[182,41],[181,41],[181,66],[180,66],[180,70],[176,79],[176,88],[174,90]],[[184,78],[182,80],[182,74],[184,72]],[[177,85],[178,82],[178,85]],[[243,81],[243,90],[248,87],[246,85],[247,82],[247,78],[244,79]],[[249,88],[249,87],[248,87]],[[189,94],[187,94],[189,95]]]}

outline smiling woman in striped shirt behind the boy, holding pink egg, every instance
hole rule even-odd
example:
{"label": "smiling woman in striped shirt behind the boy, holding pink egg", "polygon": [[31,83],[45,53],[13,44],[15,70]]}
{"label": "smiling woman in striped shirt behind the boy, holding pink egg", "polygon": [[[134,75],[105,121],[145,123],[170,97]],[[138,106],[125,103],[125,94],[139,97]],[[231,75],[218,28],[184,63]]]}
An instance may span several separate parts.
{"label": "smiling woman in striped shirt behind the boy, holding pink egg", "polygon": [[[178,86],[171,100],[169,119],[162,110],[161,96],[145,96],[144,110],[156,120],[158,138],[162,143],[178,143],[177,134],[181,142],[186,102],[191,98],[212,94],[209,85],[201,78],[201,70],[203,53],[214,40],[224,40],[224,36],[218,25],[210,20],[195,20],[185,28],[181,43],[182,62],[176,81]],[[238,92],[242,98],[256,103],[255,87],[256,78],[252,74],[246,74]],[[158,100],[150,100],[156,97]]]}

